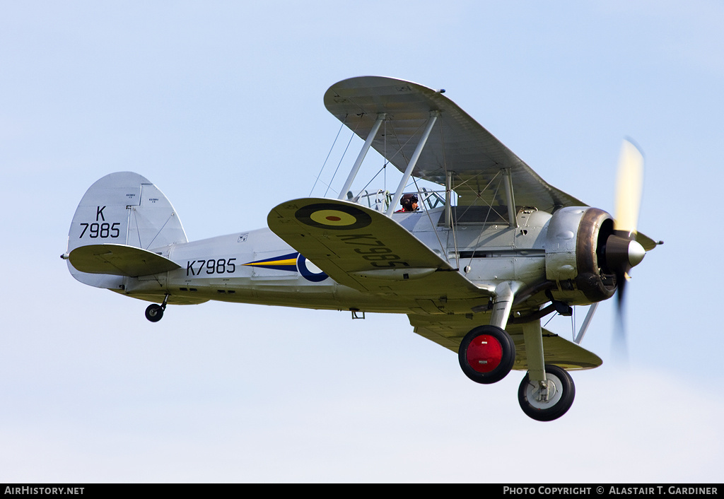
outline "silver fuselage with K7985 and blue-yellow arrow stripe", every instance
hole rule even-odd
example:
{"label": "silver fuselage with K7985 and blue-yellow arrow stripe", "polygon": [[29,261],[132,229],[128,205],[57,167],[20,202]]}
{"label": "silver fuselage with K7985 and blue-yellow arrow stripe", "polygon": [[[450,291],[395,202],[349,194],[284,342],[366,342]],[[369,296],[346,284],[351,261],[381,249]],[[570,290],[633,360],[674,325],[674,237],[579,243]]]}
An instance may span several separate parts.
{"label": "silver fuselage with K7985 and blue-yellow arrow stripe", "polygon": [[[441,214],[442,209],[432,209],[394,214],[393,219],[478,285],[494,288],[500,282],[515,281],[532,288],[544,280],[544,240],[550,214],[521,210],[518,227],[459,223],[455,230],[439,222]],[[405,314],[426,306],[464,313],[475,306],[467,301],[455,303],[439,291],[423,287],[415,298],[361,293],[335,282],[268,228],[153,251],[180,268],[153,276],[124,277],[118,292],[150,301],[168,294],[169,303],[180,304],[217,300]],[[419,284],[411,280],[409,285]]]}

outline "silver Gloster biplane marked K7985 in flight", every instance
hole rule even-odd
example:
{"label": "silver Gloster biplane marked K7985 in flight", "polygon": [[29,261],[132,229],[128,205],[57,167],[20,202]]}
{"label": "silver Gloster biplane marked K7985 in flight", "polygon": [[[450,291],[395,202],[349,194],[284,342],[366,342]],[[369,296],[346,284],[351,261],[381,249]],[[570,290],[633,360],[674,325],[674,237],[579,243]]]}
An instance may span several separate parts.
{"label": "silver Gloster biplane marked K7985 in flight", "polygon": [[[575,395],[568,372],[602,364],[579,345],[595,306],[657,245],[636,230],[641,154],[624,143],[614,218],[546,183],[443,93],[388,77],[332,85],[324,104],[362,150],[338,197],[284,201],[268,228],[189,241],[156,185],[106,175],[62,258],[80,282],[153,302],[151,322],[209,300],[407,314],[475,382],[525,371],[521,408],[557,419]],[[370,147],[402,173],[394,192],[354,190]],[[420,209],[398,210],[411,198]],[[541,325],[589,304],[573,341]]]}

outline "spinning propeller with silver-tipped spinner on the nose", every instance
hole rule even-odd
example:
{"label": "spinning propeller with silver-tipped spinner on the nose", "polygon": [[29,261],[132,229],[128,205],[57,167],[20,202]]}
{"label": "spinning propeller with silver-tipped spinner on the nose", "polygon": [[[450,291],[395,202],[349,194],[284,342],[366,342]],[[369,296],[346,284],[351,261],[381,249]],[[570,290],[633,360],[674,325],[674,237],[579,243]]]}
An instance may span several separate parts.
{"label": "spinning propeller with silver-tipped spinner on the nose", "polygon": [[623,141],[618,160],[613,234],[608,236],[604,251],[607,271],[616,276],[618,327],[614,343],[624,358],[627,356],[624,296],[626,282],[631,278],[628,272],[646,256],[646,250],[636,241],[643,180],[644,156],[633,143]]}

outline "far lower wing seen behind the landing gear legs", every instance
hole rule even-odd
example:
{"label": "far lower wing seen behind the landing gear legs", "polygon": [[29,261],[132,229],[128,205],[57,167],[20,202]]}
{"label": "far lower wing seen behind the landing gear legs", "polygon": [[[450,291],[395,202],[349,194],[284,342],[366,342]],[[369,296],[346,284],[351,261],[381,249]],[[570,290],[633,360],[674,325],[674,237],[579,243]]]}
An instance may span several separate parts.
{"label": "far lower wing seen behind the landing gear legs", "polygon": [[[457,353],[463,337],[480,324],[465,316],[424,316],[408,314],[410,324],[415,327],[418,335],[434,341],[438,345],[449,348]],[[473,316],[474,317],[474,316]],[[523,341],[523,328],[520,324],[510,324],[505,327],[510,337],[515,342],[515,364],[513,369],[528,369],[528,357],[526,356],[526,344]],[[595,353],[565,340],[549,330],[543,330],[543,352],[546,364],[555,364],[564,369],[592,369],[603,364],[603,361]]]}

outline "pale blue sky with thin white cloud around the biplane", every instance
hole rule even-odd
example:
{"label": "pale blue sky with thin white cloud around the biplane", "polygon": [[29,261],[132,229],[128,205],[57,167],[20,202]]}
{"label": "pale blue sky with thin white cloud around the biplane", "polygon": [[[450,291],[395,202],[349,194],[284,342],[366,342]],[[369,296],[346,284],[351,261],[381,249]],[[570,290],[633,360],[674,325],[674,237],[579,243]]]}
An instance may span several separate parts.
{"label": "pale blue sky with thin white cloud around the biplane", "polygon": [[[721,482],[722,25],[714,0],[0,0],[0,482]],[[151,324],[59,259],[117,171],[190,240],[264,227],[309,195],[340,126],[324,92],[359,75],[445,88],[607,211],[621,140],[644,151],[639,229],[665,244],[627,288],[628,364],[608,301],[582,344],[604,364],[562,418],[523,414],[521,372],[469,381],[403,315],[204,303]]]}

